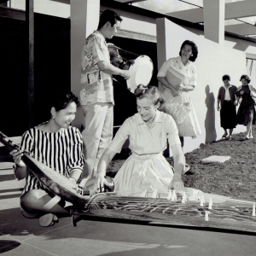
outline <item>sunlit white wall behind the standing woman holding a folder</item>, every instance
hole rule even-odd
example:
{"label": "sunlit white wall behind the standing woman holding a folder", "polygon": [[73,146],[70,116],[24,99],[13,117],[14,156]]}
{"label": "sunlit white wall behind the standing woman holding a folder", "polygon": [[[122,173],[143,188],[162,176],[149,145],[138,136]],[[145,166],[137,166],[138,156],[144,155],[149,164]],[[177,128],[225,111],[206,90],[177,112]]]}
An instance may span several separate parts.
{"label": "sunlit white wall behind the standing woman holding a folder", "polygon": [[[162,26],[165,26],[166,42],[158,42],[157,46],[161,63],[164,55],[167,59],[177,56],[181,44],[186,39],[194,41],[199,49],[199,55],[195,61],[198,85],[194,91],[190,92],[190,96],[202,133],[194,140],[185,137],[184,151],[189,152],[198,148],[201,143],[210,143],[222,136],[224,131],[220,127],[217,111],[218,89],[223,84],[222,76],[226,73],[231,77],[231,84],[240,84],[241,74],[247,73],[246,54],[241,50],[214,43],[164,18],[157,20],[157,32],[163,31]],[[160,53],[165,49],[166,53]],[[245,130],[245,126],[238,125],[234,132]]]}

